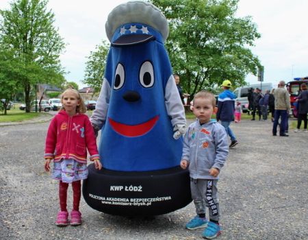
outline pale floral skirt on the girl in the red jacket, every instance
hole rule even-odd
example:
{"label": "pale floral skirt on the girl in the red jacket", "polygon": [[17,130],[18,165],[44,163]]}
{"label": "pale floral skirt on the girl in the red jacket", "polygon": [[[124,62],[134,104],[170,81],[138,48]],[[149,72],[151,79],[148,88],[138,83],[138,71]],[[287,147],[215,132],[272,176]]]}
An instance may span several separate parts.
{"label": "pale floral skirt on the girl in the red jacket", "polygon": [[55,180],[62,182],[75,182],[88,178],[86,163],[78,163],[74,159],[63,159],[61,162],[53,163],[53,175]]}

